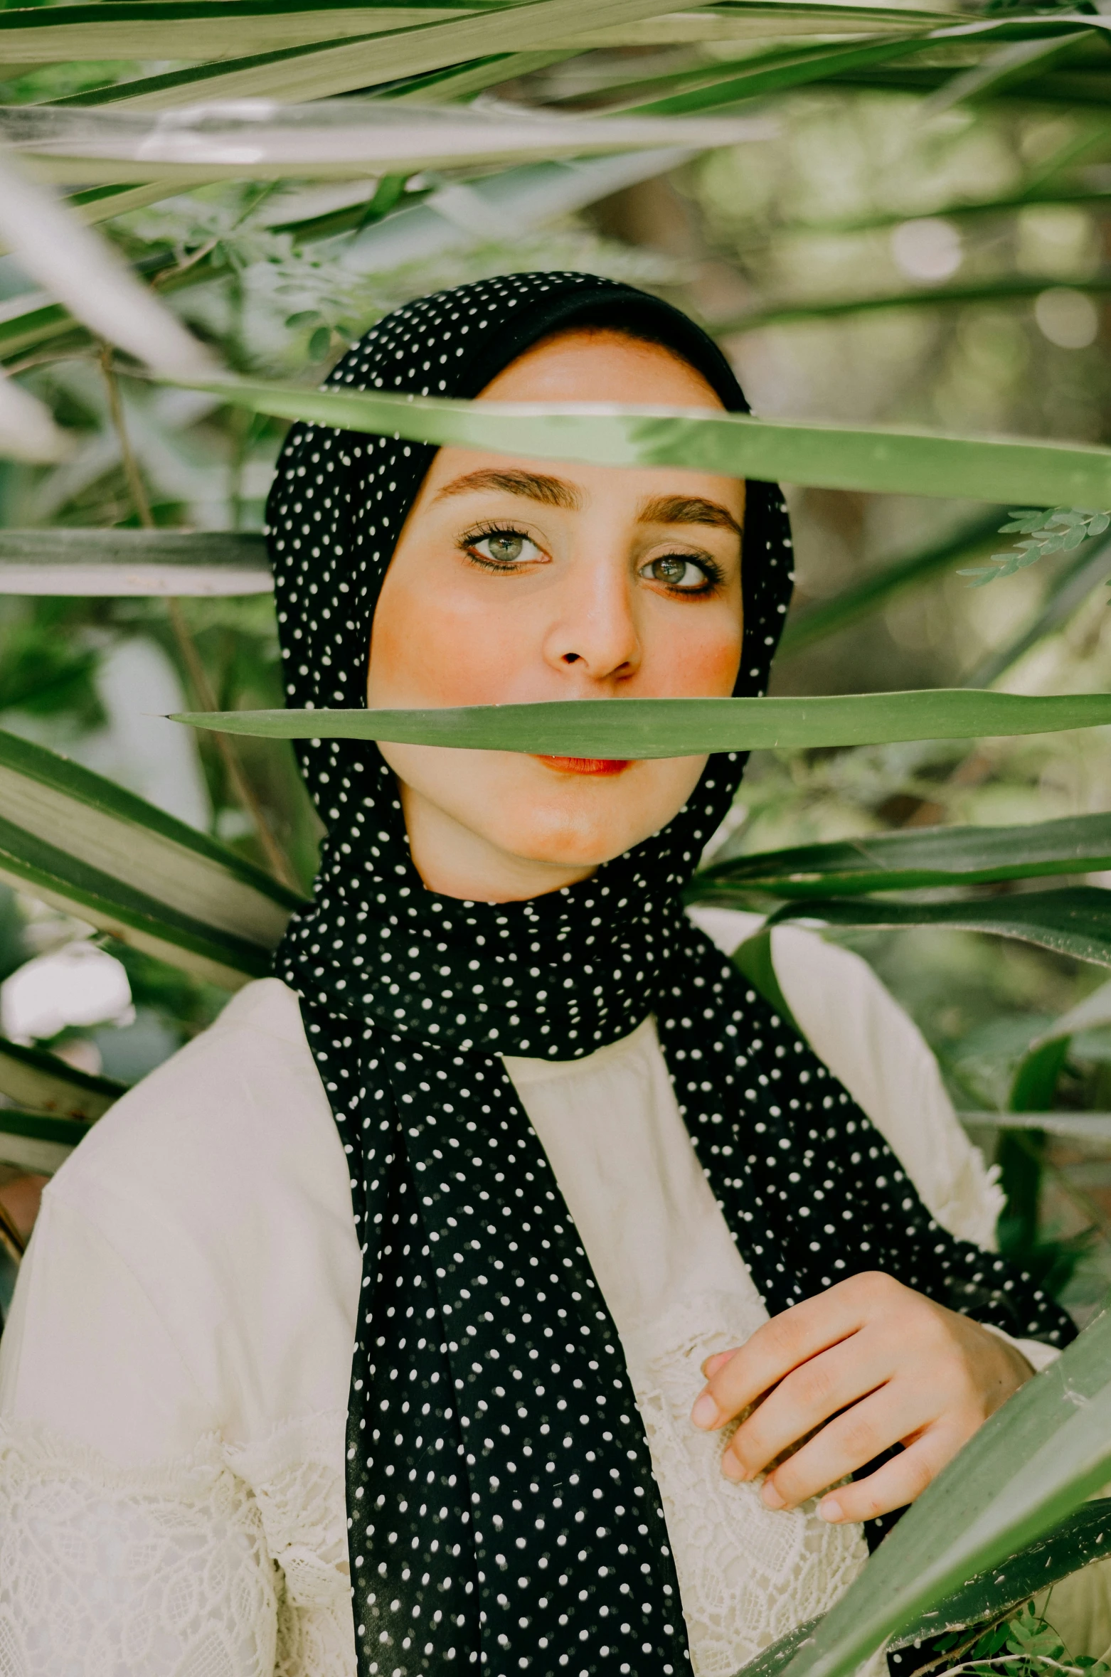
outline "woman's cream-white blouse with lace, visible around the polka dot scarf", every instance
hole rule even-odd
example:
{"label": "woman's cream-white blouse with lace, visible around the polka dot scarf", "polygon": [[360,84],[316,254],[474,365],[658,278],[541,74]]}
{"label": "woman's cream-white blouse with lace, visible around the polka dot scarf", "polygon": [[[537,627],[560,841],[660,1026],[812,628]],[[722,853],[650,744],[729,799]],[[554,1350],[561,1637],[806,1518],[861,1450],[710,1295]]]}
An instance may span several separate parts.
{"label": "woman's cream-white blouse with lace, visible around the polka dot scarf", "polygon": [[[723,949],[757,917],[696,911]],[[1000,1194],[871,969],[774,934],[799,1025],[933,1214],[988,1246]],[[696,1677],[826,1610],[859,1526],[764,1508],[690,1405],[765,1320],[655,1023],[507,1060],[614,1316]],[[297,998],[248,984],[47,1187],[0,1342],[3,1677],[352,1677],[344,1429],[359,1295],[347,1167]],[[1035,1365],[1052,1357],[1024,1343]]]}

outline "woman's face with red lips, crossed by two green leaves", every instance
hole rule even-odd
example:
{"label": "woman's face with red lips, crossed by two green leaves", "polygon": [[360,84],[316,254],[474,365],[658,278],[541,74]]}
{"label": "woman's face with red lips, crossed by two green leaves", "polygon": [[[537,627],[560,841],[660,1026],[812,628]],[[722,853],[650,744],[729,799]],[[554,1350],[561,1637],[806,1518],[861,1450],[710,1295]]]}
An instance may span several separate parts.
{"label": "woman's face with red lips, crossed by two green leaves", "polygon": [[[544,340],[478,401],[722,409],[686,362],[609,330]],[[728,696],[743,510],[737,478],[441,448],[386,572],[368,704]],[[705,765],[381,751],[425,884],[487,902],[589,877],[666,825]]]}

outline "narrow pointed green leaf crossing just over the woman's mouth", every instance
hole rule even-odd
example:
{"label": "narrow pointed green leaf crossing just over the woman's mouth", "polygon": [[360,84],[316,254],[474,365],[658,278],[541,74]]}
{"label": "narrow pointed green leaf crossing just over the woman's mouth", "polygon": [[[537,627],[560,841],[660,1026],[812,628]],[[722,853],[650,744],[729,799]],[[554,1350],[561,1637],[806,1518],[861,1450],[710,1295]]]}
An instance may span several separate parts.
{"label": "narrow pointed green leaf crossing just over the woman's mouth", "polygon": [[618,760],[1098,728],[1111,723],[1111,694],[1037,699],[938,688],[804,699],[559,699],[433,711],[186,711],[173,721],[262,740],[394,740]]}

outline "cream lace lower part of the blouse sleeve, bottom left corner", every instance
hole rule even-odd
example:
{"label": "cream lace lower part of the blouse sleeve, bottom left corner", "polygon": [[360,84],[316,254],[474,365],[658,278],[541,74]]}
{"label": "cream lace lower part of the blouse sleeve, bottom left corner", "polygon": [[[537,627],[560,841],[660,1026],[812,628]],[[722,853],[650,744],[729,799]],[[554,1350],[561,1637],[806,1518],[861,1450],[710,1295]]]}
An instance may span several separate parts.
{"label": "cream lace lower part of the blouse sleeve, bottom left corner", "polygon": [[337,1424],[141,1469],[0,1430],[0,1677],[352,1677]]}

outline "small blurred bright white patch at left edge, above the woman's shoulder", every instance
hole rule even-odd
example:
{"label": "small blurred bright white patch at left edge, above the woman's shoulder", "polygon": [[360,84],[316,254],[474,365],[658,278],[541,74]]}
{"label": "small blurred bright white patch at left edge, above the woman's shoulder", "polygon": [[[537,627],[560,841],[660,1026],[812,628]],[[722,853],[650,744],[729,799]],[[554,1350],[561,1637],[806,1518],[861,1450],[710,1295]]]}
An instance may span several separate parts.
{"label": "small blurred bright white patch at left edge, above the woman's shoulder", "polygon": [[17,1043],[45,1041],[69,1025],[133,1020],[128,973],[92,942],[35,956],[0,984],[0,1031]]}

